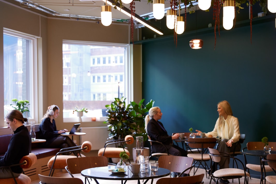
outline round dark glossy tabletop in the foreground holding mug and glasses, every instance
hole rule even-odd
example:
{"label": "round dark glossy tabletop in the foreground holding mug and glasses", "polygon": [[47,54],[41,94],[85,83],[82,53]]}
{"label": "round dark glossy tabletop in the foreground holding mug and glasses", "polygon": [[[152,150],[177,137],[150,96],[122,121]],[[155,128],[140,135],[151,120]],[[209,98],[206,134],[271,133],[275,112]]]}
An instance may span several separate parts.
{"label": "round dark glossy tabletop in the foreground holding mug and glasses", "polygon": [[[81,171],[81,175],[86,178],[93,178],[97,184],[99,182],[97,179],[101,180],[121,180],[123,184],[123,180],[125,180],[124,184],[128,180],[138,180],[138,184],[140,184],[140,180],[145,180],[144,184],[148,182],[150,179],[161,178],[168,176],[171,171],[168,169],[164,169],[159,167],[158,171],[148,171],[148,172],[140,172],[137,175],[131,173],[129,169],[126,168],[126,172],[124,174],[112,174],[109,170],[116,169],[116,166],[106,166],[106,167],[94,167],[90,169],[85,169]],[[153,180],[152,180],[153,182]]]}

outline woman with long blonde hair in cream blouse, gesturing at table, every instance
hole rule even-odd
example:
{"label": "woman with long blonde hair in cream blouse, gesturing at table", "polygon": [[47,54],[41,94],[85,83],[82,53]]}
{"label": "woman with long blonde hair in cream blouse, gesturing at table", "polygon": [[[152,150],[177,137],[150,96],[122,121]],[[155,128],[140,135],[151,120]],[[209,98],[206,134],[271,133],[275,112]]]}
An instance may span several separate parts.
{"label": "woman with long blonde hair in cream blouse, gesturing at table", "polygon": [[[218,137],[217,150],[220,152],[230,153],[232,151],[240,151],[241,145],[238,142],[240,139],[240,126],[238,118],[233,116],[231,106],[226,100],[217,104],[217,112],[219,118],[212,132],[206,133],[206,136]],[[196,135],[200,135],[201,131],[196,130]],[[235,146],[235,144],[237,144]],[[234,150],[235,148],[235,150]],[[229,168],[229,158],[221,157],[219,168]],[[214,169],[214,168],[213,168]],[[214,170],[213,170],[214,172]],[[229,183],[228,180],[221,181],[222,183]]]}

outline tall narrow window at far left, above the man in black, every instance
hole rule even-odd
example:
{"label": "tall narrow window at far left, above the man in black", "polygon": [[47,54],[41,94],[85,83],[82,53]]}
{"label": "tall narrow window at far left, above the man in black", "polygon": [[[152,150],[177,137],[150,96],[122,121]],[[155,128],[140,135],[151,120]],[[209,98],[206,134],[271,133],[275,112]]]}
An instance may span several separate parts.
{"label": "tall narrow window at far left, above the man in black", "polygon": [[[23,33],[13,32],[4,29],[4,117],[12,110],[10,104],[12,99],[28,100],[27,107],[30,112],[23,113],[23,116],[33,120],[35,116],[34,83],[37,82],[37,71],[34,69],[36,60],[35,37]],[[2,80],[2,79],[1,79]],[[66,80],[64,80],[66,83]],[[6,125],[5,125],[6,126]]]}

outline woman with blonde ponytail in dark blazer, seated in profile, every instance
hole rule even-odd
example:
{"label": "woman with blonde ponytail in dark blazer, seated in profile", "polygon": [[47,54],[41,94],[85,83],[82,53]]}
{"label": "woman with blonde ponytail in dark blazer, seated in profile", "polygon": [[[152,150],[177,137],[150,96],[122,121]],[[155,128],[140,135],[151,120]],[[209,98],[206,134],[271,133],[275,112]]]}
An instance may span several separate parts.
{"label": "woman with blonde ponytail in dark blazer, seated in profile", "polygon": [[[168,135],[163,124],[158,121],[161,118],[162,112],[159,107],[150,108],[148,115],[145,118],[145,127],[148,136],[150,136],[153,141],[163,143],[168,149],[169,154],[174,156],[187,156],[187,152],[184,149],[172,144],[172,140],[179,139],[179,133],[176,133],[173,136]],[[151,152],[166,153],[166,149],[162,144],[152,142]]]}

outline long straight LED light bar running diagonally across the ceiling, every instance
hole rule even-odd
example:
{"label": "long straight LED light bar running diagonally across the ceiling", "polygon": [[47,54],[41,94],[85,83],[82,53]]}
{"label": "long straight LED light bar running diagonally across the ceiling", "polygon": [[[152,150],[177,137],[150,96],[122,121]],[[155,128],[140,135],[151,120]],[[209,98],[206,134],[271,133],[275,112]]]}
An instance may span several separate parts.
{"label": "long straight LED light bar running diagonally across the ceiling", "polygon": [[[102,0],[105,2],[105,0]],[[112,5],[112,2],[110,2],[112,0],[107,0],[107,4],[114,7],[114,5]],[[131,17],[131,12],[129,9],[127,9],[126,7],[120,8],[120,3],[116,4],[117,10],[119,10],[120,12],[128,15],[129,17]],[[147,22],[145,19],[143,19],[142,17],[140,17],[139,15],[135,14],[135,16],[132,16],[134,20],[136,20],[137,22],[140,22],[141,24],[143,24],[145,27],[150,28],[151,30],[153,30],[154,32],[163,35],[163,31],[157,27],[155,27],[154,25],[150,25],[149,22]]]}

